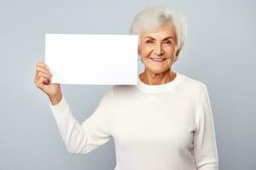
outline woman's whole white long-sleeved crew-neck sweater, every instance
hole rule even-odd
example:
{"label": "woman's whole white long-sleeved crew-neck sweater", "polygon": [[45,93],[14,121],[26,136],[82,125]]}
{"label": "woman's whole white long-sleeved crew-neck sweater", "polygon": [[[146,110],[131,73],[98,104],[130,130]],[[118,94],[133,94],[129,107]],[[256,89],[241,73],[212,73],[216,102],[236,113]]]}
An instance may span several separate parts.
{"label": "woman's whole white long-sleeved crew-neck sweater", "polygon": [[89,153],[113,138],[114,170],[218,170],[207,86],[177,72],[172,82],[115,85],[79,123],[63,96],[50,105],[72,153]]}

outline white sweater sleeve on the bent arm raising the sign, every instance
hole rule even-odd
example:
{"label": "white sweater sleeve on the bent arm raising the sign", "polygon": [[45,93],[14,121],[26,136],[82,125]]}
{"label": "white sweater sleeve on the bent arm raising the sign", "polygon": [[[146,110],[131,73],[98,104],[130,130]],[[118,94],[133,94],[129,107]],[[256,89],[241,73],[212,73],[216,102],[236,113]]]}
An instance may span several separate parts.
{"label": "white sweater sleeve on the bent arm raising the sign", "polygon": [[111,138],[109,127],[112,99],[111,89],[103,95],[96,110],[82,123],[73,117],[64,96],[57,105],[49,104],[61,138],[69,152],[89,153],[108,142]]}

